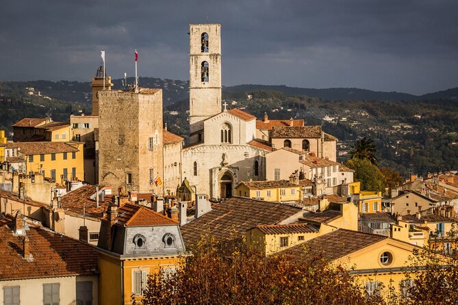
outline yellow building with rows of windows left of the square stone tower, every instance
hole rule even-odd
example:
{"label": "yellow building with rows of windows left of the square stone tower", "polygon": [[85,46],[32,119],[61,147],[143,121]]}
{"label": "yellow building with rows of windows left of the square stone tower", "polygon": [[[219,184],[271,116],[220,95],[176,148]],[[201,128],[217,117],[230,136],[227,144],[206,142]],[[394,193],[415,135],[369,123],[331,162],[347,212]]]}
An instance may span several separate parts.
{"label": "yellow building with rows of windows left of the square stone tower", "polygon": [[7,148],[16,148],[25,159],[26,172],[40,172],[60,184],[65,181],[84,180],[84,152],[77,142],[17,142]]}

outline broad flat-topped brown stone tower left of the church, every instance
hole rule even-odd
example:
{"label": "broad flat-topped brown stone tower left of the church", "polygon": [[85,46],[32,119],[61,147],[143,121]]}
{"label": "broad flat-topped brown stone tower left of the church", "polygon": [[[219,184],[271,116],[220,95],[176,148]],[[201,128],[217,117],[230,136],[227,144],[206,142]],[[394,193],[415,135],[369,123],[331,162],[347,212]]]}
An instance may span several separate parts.
{"label": "broad flat-topped brown stone tower left of the church", "polygon": [[99,91],[99,103],[99,183],[162,196],[162,90]]}

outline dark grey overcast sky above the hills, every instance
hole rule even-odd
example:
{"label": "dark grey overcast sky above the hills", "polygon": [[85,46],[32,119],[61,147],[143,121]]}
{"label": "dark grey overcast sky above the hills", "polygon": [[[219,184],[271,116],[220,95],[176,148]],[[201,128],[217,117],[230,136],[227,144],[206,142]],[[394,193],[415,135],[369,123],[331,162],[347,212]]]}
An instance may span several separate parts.
{"label": "dark grey overcast sky above the hills", "polygon": [[189,79],[189,23],[220,23],[222,83],[424,94],[458,87],[457,0],[0,0],[0,80]]}

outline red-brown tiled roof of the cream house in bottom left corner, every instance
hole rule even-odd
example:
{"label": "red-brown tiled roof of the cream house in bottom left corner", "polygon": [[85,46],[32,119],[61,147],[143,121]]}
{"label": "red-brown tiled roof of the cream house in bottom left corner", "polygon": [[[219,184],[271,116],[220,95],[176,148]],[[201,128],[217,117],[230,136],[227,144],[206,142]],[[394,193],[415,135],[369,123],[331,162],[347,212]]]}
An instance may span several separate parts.
{"label": "red-brown tiled roof of the cream house in bottom left corner", "polygon": [[5,222],[1,224],[0,257],[4,261],[0,264],[0,280],[97,274],[97,251],[92,246],[49,229],[29,226],[25,234],[33,259],[26,260],[24,237],[13,235]]}

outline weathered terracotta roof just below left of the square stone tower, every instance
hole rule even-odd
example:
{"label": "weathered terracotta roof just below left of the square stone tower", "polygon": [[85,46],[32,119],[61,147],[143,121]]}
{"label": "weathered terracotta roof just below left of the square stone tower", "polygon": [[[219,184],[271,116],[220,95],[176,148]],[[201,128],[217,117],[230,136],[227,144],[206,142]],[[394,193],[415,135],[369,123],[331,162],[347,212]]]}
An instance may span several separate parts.
{"label": "weathered terracotta roof just below left of the square stone tower", "polygon": [[[110,197],[105,196],[103,201],[99,201],[99,207],[97,207],[97,199],[95,197],[96,187],[96,185],[84,185],[62,196],[60,202],[65,213],[83,217],[84,210],[86,210],[86,217],[100,220],[112,200]],[[105,189],[105,187],[99,185],[99,191],[103,189]]]}

